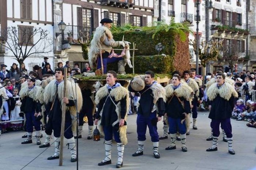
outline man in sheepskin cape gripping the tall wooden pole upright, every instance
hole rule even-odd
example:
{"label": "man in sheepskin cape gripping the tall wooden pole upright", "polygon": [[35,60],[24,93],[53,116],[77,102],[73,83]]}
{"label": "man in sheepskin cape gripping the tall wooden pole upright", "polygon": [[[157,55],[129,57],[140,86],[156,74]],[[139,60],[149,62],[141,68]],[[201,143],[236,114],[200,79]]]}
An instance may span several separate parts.
{"label": "man in sheepskin cape gripping the tall wooden pole upright", "polygon": [[[72,87],[71,82],[66,82],[64,87],[64,69],[57,68],[55,70],[55,80],[52,80],[46,87],[44,93],[44,100],[50,104],[49,124],[53,128],[55,153],[48,160],[60,158],[60,137],[61,135],[61,122],[62,118],[62,106],[65,104],[65,128],[64,137],[67,139],[67,145],[71,153],[71,162],[76,162],[76,145],[72,131],[75,131],[76,122],[72,121],[76,116],[75,108],[75,94],[77,94],[78,111],[82,108],[82,93],[80,88]],[[66,96],[64,96],[64,88],[66,88]]]}

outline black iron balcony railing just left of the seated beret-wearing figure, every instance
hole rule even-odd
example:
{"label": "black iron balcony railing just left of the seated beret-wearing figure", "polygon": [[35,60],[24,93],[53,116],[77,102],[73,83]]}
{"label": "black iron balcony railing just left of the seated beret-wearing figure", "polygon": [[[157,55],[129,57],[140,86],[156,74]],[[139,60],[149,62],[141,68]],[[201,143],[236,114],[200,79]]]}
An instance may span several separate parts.
{"label": "black iron balcony railing just left of the seated beret-wearing figure", "polygon": [[83,38],[83,41],[86,41],[87,38],[90,40],[92,31],[90,27],[66,25],[63,40],[69,43],[78,43],[79,38]]}

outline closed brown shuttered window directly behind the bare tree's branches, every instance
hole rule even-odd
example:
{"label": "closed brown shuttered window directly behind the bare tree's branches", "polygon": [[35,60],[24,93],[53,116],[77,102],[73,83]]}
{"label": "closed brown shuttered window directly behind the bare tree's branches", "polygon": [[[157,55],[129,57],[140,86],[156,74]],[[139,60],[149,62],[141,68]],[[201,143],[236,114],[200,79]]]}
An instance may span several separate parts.
{"label": "closed brown shuttered window directly behind the bare tree's branches", "polygon": [[22,46],[33,46],[34,27],[18,25],[18,43]]}

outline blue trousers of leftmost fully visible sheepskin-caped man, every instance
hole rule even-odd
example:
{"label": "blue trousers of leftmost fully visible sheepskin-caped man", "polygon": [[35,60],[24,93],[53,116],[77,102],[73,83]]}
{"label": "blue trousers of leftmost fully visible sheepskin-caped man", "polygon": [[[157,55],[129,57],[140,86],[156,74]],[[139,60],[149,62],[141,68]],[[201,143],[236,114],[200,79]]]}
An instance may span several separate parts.
{"label": "blue trousers of leftmost fully visible sheepskin-caped man", "polygon": [[32,133],[33,132],[33,125],[35,127],[35,130],[41,130],[40,128],[40,120],[35,120],[35,116],[34,116],[35,112],[26,112],[25,116],[26,116],[26,128],[27,128],[27,132]]}

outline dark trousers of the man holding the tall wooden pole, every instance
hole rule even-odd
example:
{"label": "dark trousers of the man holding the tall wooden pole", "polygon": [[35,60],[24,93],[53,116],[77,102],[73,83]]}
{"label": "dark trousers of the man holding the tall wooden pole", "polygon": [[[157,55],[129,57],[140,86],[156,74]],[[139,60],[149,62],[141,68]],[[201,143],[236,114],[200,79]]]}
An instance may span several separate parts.
{"label": "dark trousers of the man holding the tall wooden pole", "polygon": [[[61,120],[49,119],[48,122],[51,123],[51,126],[53,128],[53,135],[54,135],[54,137],[60,137]],[[66,139],[70,139],[70,138],[73,137],[73,133],[72,133],[72,119],[71,118],[67,119],[67,114],[66,114],[66,121],[65,121],[64,137]]]}

